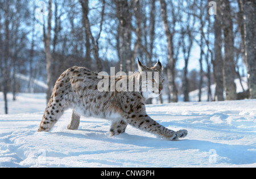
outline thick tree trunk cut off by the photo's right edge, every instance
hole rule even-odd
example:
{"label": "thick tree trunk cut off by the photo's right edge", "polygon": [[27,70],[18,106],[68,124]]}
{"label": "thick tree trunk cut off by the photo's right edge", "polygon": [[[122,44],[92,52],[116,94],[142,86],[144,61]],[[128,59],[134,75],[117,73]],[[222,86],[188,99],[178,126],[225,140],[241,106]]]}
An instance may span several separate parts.
{"label": "thick tree trunk cut off by the photo's right edge", "polygon": [[256,99],[256,20],[255,1],[245,0],[245,54],[247,60],[247,74],[249,76],[250,98]]}

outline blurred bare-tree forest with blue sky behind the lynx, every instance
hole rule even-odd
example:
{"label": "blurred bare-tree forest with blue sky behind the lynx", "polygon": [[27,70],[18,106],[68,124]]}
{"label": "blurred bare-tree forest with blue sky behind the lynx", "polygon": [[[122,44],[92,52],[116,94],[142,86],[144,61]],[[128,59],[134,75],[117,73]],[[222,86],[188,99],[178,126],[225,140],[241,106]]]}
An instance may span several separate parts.
{"label": "blurred bare-tree forest with blue sky behind the lynx", "polygon": [[[51,95],[65,69],[164,66],[166,102],[256,98],[255,1],[0,0],[0,91]],[[234,80],[247,79],[237,93]],[[214,92],[210,86],[216,84]],[[159,97],[163,102],[162,96]],[[151,101],[147,101],[151,103]],[[2,109],[1,109],[2,110]]]}

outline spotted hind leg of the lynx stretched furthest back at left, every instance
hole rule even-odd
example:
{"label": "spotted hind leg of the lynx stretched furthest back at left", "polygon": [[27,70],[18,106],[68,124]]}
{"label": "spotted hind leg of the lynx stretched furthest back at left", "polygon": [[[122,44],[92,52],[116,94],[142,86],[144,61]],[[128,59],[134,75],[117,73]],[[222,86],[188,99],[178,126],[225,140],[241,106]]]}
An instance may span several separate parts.
{"label": "spotted hind leg of the lynx stretched furthest back at left", "polygon": [[60,119],[61,115],[63,115],[65,109],[67,109],[67,106],[65,106],[60,99],[53,99],[53,97],[51,97],[46,111],[44,112],[38,132],[50,131],[57,120]]}

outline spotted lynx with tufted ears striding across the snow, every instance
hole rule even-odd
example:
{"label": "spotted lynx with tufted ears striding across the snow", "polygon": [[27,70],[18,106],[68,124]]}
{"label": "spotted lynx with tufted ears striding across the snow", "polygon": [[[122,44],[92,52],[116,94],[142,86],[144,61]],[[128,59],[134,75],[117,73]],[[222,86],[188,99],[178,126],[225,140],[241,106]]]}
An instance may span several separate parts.
{"label": "spotted lynx with tufted ears striding across the snow", "polygon": [[[38,131],[50,131],[57,120],[67,109],[73,109],[71,122],[68,129],[77,130],[80,123],[80,115],[94,116],[112,120],[110,136],[125,132],[127,124],[140,130],[151,132],[167,140],[177,140],[187,136],[187,130],[172,131],[157,123],[147,115],[145,102],[148,97],[158,97],[163,90],[164,78],[163,66],[158,60],[153,67],[143,65],[138,59],[138,72],[133,75],[115,77],[117,82],[124,80],[139,81],[139,91],[99,91],[98,83],[102,78],[89,69],[73,66],[65,70],[57,79],[55,87],[49,99],[46,111]],[[151,79],[142,78],[143,72],[152,72]],[[156,72],[159,75],[155,75]],[[145,73],[143,73],[145,74]],[[146,73],[147,75],[147,73]],[[110,76],[104,76],[110,79]],[[127,88],[129,88],[128,83]],[[141,86],[158,86],[147,88],[143,91]],[[151,84],[151,85],[148,85]],[[110,88],[110,86],[109,86]]]}

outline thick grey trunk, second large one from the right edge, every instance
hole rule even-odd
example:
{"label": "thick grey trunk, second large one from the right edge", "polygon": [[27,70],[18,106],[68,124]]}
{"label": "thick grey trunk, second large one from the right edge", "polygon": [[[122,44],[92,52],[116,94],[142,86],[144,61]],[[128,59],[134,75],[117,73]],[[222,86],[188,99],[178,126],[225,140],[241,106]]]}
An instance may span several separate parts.
{"label": "thick grey trunk, second large one from the right edge", "polygon": [[221,0],[222,29],[224,31],[224,88],[226,100],[236,100],[235,65],[234,65],[234,36],[232,14],[229,1]]}

